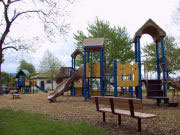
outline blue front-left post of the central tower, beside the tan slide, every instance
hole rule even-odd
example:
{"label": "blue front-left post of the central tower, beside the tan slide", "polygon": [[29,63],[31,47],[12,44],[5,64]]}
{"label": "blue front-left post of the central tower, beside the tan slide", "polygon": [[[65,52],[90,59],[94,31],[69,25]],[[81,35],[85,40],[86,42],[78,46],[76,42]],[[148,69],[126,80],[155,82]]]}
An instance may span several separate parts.
{"label": "blue front-left post of the central tower, beside the tan slide", "polygon": [[84,93],[84,100],[87,101],[87,93],[86,93],[86,49],[84,49],[84,57],[83,57],[83,63],[84,63],[84,86],[83,86],[83,93]]}

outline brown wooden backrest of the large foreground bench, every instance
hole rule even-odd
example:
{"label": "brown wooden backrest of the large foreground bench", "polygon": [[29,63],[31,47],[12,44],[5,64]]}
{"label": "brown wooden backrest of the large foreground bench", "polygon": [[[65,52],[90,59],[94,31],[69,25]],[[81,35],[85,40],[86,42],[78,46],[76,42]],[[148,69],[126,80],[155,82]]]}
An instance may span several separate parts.
{"label": "brown wooden backrest of the large foreground bench", "polygon": [[115,109],[126,109],[130,111],[132,117],[134,117],[134,110],[142,109],[142,103],[140,99],[135,98],[122,98],[122,97],[101,97],[94,96],[92,101],[96,103],[96,109],[99,111],[99,105],[109,105],[112,113],[115,113]]}

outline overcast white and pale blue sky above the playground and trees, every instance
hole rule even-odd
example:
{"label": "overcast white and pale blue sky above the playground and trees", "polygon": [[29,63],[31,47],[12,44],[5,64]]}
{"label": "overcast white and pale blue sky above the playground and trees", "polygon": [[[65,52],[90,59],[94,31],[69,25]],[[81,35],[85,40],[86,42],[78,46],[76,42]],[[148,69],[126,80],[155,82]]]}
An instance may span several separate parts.
{"label": "overcast white and pale blue sky above the playground and trees", "polygon": [[[38,69],[39,61],[48,49],[53,52],[65,66],[71,66],[70,55],[75,50],[73,33],[82,30],[87,33],[87,26],[93,23],[95,18],[109,21],[111,25],[125,26],[133,37],[135,32],[149,19],[153,19],[167,34],[176,37],[180,41],[180,31],[173,24],[172,16],[178,6],[178,0],[79,0],[72,8],[70,14],[71,30],[66,40],[59,38],[56,43],[43,41],[36,53],[21,56],[17,52],[6,52],[2,70],[16,72],[19,61],[26,60]],[[38,28],[34,25],[31,29]],[[29,32],[29,34],[33,34]],[[149,36],[142,37],[143,43],[151,42]]]}

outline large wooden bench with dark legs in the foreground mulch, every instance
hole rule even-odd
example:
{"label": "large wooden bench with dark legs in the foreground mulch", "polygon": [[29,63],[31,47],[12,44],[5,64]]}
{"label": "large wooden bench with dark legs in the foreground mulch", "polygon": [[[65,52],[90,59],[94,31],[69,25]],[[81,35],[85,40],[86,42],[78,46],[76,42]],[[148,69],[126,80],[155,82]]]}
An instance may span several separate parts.
{"label": "large wooden bench with dark legs in the foreground mulch", "polygon": [[[97,111],[102,112],[103,122],[106,121],[105,113],[118,115],[119,125],[121,125],[121,115],[129,116],[138,120],[138,132],[141,132],[141,119],[157,117],[155,114],[135,111],[135,109],[142,109],[140,99],[94,96],[92,97],[92,101],[96,104]],[[101,107],[101,105],[107,105],[108,107]]]}

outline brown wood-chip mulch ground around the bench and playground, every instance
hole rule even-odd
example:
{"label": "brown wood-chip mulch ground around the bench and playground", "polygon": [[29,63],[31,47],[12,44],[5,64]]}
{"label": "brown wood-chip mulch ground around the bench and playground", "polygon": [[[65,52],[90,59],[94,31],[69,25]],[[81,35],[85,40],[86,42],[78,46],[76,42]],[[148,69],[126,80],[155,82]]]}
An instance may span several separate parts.
{"label": "brown wood-chip mulch ground around the bench and playground", "polygon": [[57,102],[49,103],[47,93],[23,94],[19,99],[12,95],[0,96],[0,108],[24,110],[26,112],[49,114],[52,120],[82,122],[103,127],[111,135],[180,135],[180,105],[167,107],[161,104],[156,106],[155,100],[143,99],[143,112],[157,114],[158,118],[142,119],[142,132],[137,132],[137,120],[122,116],[122,125],[117,125],[117,116],[107,114],[106,122],[102,122],[102,114],[96,111],[95,104],[84,102],[83,97],[68,95],[57,98]]}

